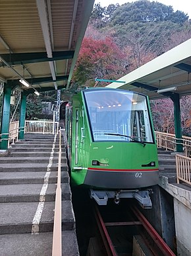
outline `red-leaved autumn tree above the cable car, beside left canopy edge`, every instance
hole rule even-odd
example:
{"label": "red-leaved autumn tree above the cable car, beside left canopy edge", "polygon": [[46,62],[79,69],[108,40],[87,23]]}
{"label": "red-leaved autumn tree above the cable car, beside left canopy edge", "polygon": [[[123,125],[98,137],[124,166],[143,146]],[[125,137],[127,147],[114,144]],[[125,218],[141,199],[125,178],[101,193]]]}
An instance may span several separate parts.
{"label": "red-leaved autumn tree above the cable car, beside left canopy edge", "polygon": [[95,77],[118,79],[125,74],[124,60],[123,51],[112,38],[84,38],[72,80],[79,85],[94,86]]}

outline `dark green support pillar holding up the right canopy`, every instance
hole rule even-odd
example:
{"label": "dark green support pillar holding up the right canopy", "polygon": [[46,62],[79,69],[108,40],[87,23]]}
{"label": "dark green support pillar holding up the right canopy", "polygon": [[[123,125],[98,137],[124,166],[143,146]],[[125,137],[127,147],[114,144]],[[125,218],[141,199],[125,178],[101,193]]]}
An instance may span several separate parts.
{"label": "dark green support pillar holding up the right canopy", "polygon": [[[181,126],[181,117],[180,117],[180,96],[174,94],[171,96],[171,99],[174,103],[174,116],[175,116],[175,136],[177,138],[177,143],[182,143],[182,126]],[[177,144],[177,152],[182,152],[182,144]]]}

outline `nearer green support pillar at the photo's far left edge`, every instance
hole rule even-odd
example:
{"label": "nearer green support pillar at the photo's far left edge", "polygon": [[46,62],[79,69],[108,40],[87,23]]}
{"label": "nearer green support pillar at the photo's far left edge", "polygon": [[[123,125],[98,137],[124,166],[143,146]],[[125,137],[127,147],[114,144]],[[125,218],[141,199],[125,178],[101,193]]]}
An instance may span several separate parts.
{"label": "nearer green support pillar at the photo's far left edge", "polygon": [[10,102],[11,102],[11,86],[5,84],[3,90],[3,107],[1,116],[1,142],[0,149],[7,150],[9,138],[9,122],[10,122]]}

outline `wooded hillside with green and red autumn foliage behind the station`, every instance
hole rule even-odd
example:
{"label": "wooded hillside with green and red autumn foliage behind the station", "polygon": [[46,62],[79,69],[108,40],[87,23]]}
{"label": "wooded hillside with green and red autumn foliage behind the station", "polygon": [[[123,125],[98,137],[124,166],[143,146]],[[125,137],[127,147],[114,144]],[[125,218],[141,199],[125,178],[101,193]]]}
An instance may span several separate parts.
{"label": "wooded hillside with green and red autumn foliage behind the station", "polygon": [[[182,11],[157,1],[94,5],[74,69],[72,88],[95,85],[95,78],[119,79],[191,37],[191,21]],[[182,133],[191,136],[190,96],[180,100]],[[155,130],[175,132],[171,99],[151,101]]]}

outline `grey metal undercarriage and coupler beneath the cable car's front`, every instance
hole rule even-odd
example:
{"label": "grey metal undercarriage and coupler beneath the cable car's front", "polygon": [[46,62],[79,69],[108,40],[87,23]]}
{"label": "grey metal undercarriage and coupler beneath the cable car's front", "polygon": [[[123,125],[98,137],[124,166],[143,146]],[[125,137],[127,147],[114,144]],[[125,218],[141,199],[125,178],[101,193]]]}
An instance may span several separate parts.
{"label": "grey metal undercarriage and coupler beneath the cable car's front", "polygon": [[97,191],[90,189],[90,197],[94,198],[99,205],[107,205],[108,198],[113,198],[115,204],[119,204],[121,198],[135,198],[144,209],[152,208],[150,193],[152,193],[152,189],[145,191],[139,191],[138,189],[120,191]]}

